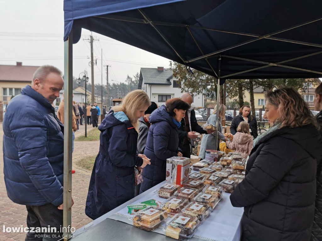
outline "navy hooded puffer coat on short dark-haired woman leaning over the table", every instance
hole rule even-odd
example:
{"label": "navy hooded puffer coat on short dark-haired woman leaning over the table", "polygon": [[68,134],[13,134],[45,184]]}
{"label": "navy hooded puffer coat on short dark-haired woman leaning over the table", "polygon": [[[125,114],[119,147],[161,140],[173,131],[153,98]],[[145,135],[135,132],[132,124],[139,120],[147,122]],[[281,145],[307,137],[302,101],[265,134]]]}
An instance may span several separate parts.
{"label": "navy hooded puffer coat on short dark-haired woman leaning over the table", "polygon": [[166,112],[165,105],[152,112],[149,122],[151,126],[144,154],[151,159],[151,165],[143,169],[140,193],[166,180],[166,159],[177,156],[181,151],[177,125]]}

